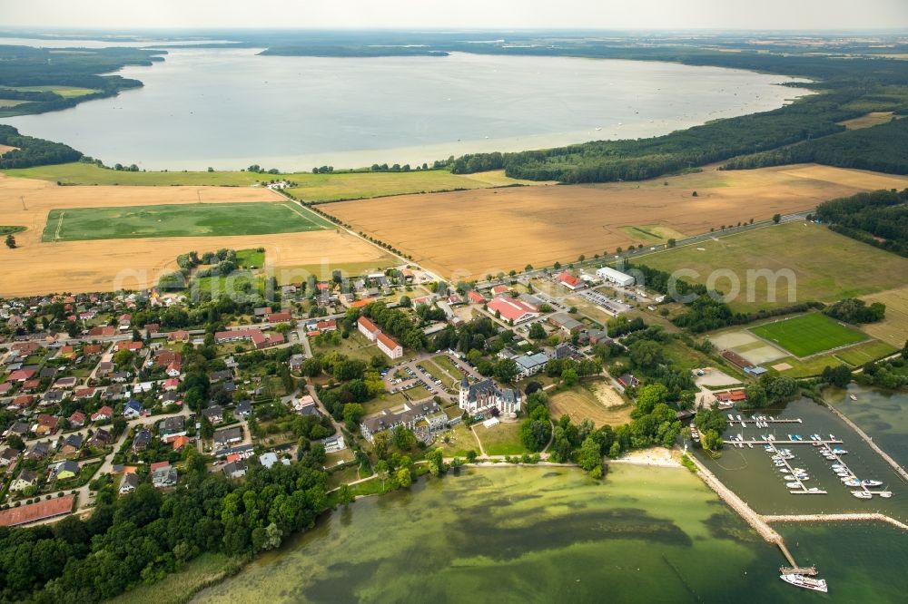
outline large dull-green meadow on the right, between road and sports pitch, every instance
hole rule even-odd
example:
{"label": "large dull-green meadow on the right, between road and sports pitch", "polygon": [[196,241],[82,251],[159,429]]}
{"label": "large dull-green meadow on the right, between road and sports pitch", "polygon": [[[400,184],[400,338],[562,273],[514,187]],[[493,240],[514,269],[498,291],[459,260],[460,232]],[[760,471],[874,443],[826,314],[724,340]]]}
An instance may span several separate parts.
{"label": "large dull-green meadow on the right, between road and sports pitch", "polygon": [[[744,312],[810,300],[834,302],[844,297],[865,296],[898,286],[897,280],[893,281],[895,275],[908,275],[908,258],[873,248],[823,226],[802,222],[674,248],[639,258],[637,262],[667,272],[692,268],[699,276],[683,278],[700,283],[705,283],[715,270],[731,270],[738,278],[741,292],[729,304],[735,311]],[[754,295],[748,299],[747,271],[762,269],[774,272],[790,269],[795,275],[796,299],[789,300],[785,278],[776,282],[775,302],[767,296],[769,287],[765,278],[751,279]],[[727,278],[718,278],[715,287],[728,292],[728,283]]]}

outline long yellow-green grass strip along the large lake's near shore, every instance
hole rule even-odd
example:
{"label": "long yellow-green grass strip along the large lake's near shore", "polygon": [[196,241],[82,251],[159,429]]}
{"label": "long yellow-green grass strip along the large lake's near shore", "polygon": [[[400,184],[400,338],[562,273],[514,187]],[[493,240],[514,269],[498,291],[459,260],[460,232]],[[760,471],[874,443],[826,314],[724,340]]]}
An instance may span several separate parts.
{"label": "long yellow-green grass strip along the large lake's near shore", "polygon": [[483,189],[516,184],[536,185],[538,182],[510,179],[504,170],[457,175],[447,170],[410,172],[336,172],[312,174],[262,174],[246,171],[151,171],[130,172],[99,168],[90,163],[63,163],[4,170],[5,174],[28,179],[50,180],[66,185],[131,185],[172,186],[207,185],[225,187],[254,187],[271,180],[291,180],[297,186],[289,192],[304,201],[354,200],[402,193],[423,193],[439,190]]}

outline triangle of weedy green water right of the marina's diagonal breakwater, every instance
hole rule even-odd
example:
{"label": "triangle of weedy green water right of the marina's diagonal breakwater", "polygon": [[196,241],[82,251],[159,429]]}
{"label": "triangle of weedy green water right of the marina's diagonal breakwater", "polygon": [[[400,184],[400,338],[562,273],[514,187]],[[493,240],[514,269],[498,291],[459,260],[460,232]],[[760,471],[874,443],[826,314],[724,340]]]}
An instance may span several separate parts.
{"label": "triangle of weedy green water right of the marina's diagonal breakwater", "polygon": [[823,395],[896,462],[908,466],[908,393],[851,384],[847,390],[830,388]]}

